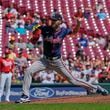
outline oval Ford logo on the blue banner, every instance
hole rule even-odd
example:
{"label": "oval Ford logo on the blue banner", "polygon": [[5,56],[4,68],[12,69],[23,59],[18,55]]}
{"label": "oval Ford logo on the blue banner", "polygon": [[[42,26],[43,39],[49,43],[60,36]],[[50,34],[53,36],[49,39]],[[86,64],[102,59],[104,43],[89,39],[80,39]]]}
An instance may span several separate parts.
{"label": "oval Ford logo on the blue banner", "polygon": [[30,90],[30,96],[34,98],[49,98],[54,95],[54,90],[51,88],[33,88]]}

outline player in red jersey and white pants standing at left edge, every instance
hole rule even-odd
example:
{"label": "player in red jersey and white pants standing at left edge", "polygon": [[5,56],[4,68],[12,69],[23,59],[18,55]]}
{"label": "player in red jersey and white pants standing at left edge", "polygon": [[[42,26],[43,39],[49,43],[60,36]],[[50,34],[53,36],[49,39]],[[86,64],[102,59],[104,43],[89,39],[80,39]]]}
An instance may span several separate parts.
{"label": "player in red jersey and white pants standing at left edge", "polygon": [[0,58],[0,102],[2,100],[2,95],[4,93],[4,87],[6,85],[5,91],[5,101],[9,102],[11,79],[14,70],[14,61],[9,58],[9,50],[5,51],[4,57]]}

